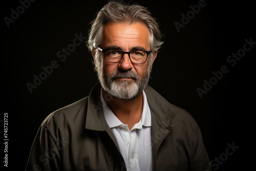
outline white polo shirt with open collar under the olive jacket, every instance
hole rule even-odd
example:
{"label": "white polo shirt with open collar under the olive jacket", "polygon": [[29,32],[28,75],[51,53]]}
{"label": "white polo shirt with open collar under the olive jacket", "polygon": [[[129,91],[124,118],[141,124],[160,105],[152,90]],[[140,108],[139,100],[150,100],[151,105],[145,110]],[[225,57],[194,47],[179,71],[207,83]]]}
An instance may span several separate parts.
{"label": "white polo shirt with open collar under the olive jacket", "polygon": [[131,131],[128,125],[123,124],[106,104],[102,89],[100,98],[104,117],[115,135],[127,170],[152,170],[151,112],[145,92],[143,91],[143,111],[140,121]]}

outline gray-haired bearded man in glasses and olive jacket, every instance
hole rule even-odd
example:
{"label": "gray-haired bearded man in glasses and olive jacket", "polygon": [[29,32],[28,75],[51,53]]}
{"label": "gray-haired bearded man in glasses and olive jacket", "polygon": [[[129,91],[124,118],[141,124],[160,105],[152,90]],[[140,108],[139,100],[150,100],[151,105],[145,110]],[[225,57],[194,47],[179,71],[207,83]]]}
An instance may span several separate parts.
{"label": "gray-haired bearded man in glasses and olive jacket", "polygon": [[162,45],[139,5],[110,2],[89,33],[99,83],[50,114],[28,170],[211,170],[197,123],[147,86]]}

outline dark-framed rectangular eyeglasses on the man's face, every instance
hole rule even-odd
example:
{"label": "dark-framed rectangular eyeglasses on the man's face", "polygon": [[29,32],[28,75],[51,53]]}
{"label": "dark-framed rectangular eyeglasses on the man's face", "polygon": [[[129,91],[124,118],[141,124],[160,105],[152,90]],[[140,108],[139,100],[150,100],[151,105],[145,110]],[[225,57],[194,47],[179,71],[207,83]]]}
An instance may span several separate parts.
{"label": "dark-framed rectangular eyeglasses on the man's face", "polygon": [[151,51],[143,51],[143,50],[134,50],[130,52],[123,52],[117,49],[100,49],[98,50],[104,53],[104,58],[108,62],[117,63],[120,62],[123,58],[123,55],[126,53],[129,55],[132,63],[141,64],[145,63],[147,56],[151,53]]}

